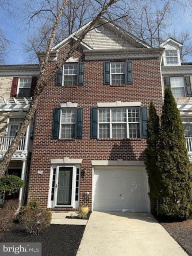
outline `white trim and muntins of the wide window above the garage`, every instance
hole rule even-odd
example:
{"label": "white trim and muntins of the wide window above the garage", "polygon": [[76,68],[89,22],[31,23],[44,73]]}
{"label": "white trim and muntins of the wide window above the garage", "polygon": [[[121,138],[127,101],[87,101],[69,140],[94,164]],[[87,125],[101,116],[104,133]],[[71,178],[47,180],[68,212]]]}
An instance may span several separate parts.
{"label": "white trim and muntins of the wide window above the garage", "polygon": [[[120,107],[120,108],[126,108],[126,122],[112,122],[111,119],[111,110],[112,110],[112,107],[99,107],[99,108],[109,108],[109,122],[99,122],[97,121],[97,138],[101,138],[99,137],[99,124],[101,123],[109,123],[109,137],[106,137],[106,138],[113,138],[112,137],[112,124],[113,123],[126,123],[126,137],[125,138],[129,138],[129,123],[139,123],[139,137],[131,137],[131,138],[140,138],[141,137],[141,120],[140,120],[140,107],[133,107],[133,108],[138,108],[138,111],[139,111],[139,122],[128,122],[128,108],[131,108],[131,107]],[[115,107],[116,108],[116,107]],[[99,109],[97,111],[97,120],[99,120]],[[101,138],[102,139],[102,138]],[[103,138],[104,139],[104,138]],[[123,139],[121,137],[114,137],[114,139]]]}

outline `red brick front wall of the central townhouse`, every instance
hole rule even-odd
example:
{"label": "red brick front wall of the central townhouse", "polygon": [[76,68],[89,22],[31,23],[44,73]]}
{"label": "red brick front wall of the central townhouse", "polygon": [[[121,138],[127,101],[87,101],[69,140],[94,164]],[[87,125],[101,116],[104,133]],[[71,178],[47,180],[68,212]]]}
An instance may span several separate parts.
{"label": "red brick front wall of the central townhouse", "polygon": [[[60,57],[64,48],[60,50]],[[83,60],[80,50],[74,57]],[[118,61],[118,60],[117,60]],[[121,86],[103,85],[103,61],[84,61],[84,85],[65,87],[55,86],[54,79],[44,88],[38,104],[33,153],[30,168],[28,200],[39,200],[41,207],[47,207],[50,173],[50,158],[82,158],[81,167],[86,168],[80,180],[80,202],[82,193],[89,191],[91,198],[92,166],[91,160],[144,160],[145,139],[90,139],[90,108],[97,102],[141,101],[148,106],[154,101],[157,112],[162,104],[159,59],[132,59],[133,84]],[[50,69],[54,62],[50,63]],[[83,108],[82,139],[51,139],[53,108],[61,102],[71,101]],[[42,175],[37,170],[43,170]]]}

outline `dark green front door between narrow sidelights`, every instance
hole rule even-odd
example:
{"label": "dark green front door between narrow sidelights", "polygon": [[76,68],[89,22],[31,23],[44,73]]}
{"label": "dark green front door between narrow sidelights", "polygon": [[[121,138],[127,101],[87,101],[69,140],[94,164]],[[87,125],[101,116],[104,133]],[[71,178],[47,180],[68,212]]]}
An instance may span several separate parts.
{"label": "dark green front door between narrow sidelights", "polygon": [[58,171],[57,205],[71,205],[72,167],[60,167]]}

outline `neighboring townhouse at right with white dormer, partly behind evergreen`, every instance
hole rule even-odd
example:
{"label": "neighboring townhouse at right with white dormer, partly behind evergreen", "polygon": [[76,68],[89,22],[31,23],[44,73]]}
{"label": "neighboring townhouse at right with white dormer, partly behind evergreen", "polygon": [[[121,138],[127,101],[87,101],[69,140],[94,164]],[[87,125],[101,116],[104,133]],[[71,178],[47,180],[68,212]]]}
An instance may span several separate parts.
{"label": "neighboring townhouse at right with white dormer, partly behind evergreen", "polygon": [[164,47],[162,62],[162,82],[170,87],[180,111],[185,128],[186,147],[192,161],[192,63],[182,63],[180,53],[182,44],[173,38],[168,38],[160,44]]}

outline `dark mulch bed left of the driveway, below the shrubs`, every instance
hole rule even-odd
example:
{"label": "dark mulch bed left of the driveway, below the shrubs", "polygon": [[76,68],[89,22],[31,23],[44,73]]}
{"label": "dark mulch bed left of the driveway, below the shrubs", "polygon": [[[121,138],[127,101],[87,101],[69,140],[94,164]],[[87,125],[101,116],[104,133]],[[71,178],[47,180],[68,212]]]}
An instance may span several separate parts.
{"label": "dark mulch bed left of the driveway, below the shrubs", "polygon": [[26,233],[14,223],[0,236],[0,242],[41,242],[42,256],[75,256],[85,225],[51,224],[39,235]]}

